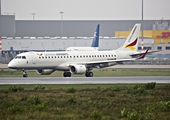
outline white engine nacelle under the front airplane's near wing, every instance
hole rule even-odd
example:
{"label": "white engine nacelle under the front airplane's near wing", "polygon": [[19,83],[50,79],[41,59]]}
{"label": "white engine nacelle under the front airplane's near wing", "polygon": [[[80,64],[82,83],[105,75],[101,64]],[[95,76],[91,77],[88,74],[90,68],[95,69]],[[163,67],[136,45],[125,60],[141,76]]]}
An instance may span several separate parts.
{"label": "white engine nacelle under the front airplane's near wing", "polygon": [[73,74],[84,74],[87,68],[84,65],[75,65],[70,67],[70,72]]}

